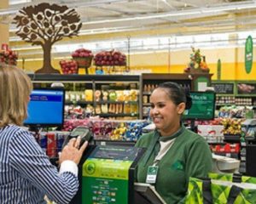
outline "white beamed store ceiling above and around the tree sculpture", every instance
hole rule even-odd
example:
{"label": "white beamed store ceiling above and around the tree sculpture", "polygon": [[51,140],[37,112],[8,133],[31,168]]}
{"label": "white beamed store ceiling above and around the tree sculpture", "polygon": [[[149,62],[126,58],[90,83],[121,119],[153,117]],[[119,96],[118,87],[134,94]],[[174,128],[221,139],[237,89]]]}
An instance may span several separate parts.
{"label": "white beamed store ceiling above and around the tree sculpture", "polygon": [[10,41],[15,37],[11,21],[19,9],[42,2],[75,8],[83,22],[80,35],[87,36],[117,31],[185,36],[256,30],[256,0],[9,0],[9,8],[0,9],[0,21],[9,24]]}

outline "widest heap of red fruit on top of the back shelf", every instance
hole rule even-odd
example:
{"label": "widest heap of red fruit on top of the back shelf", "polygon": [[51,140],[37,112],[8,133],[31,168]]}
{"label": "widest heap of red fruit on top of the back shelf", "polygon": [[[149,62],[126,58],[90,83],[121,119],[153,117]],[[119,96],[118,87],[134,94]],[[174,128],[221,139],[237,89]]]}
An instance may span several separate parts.
{"label": "widest heap of red fruit on top of the back shelf", "polygon": [[119,51],[102,51],[94,57],[94,64],[96,66],[126,65],[126,56]]}

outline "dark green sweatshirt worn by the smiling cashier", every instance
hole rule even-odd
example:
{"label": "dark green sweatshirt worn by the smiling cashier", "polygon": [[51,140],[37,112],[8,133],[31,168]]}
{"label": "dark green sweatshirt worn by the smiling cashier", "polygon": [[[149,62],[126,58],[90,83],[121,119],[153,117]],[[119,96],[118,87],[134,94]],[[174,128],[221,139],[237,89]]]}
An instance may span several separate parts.
{"label": "dark green sweatshirt worn by the smiling cashier", "polygon": [[158,161],[155,190],[168,204],[183,201],[189,184],[189,177],[207,177],[212,169],[212,153],[205,139],[185,127],[177,133],[161,137],[157,131],[144,134],[136,146],[147,148],[137,164],[137,182],[145,183],[148,167],[154,165],[160,152],[160,143],[175,139]]}

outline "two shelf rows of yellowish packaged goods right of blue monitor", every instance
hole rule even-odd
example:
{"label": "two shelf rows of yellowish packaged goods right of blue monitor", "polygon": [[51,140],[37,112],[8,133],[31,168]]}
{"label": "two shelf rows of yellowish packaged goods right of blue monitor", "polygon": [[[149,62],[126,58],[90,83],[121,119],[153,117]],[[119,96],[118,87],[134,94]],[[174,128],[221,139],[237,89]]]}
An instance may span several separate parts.
{"label": "two shelf rows of yellowish packaged goods right of blue monitor", "polygon": [[[93,99],[96,105],[93,107]],[[79,102],[91,102],[84,105],[83,108],[79,107],[78,111],[66,111],[66,118],[83,118],[83,116],[91,116],[94,114],[131,114],[138,113],[138,90],[125,89],[125,90],[96,90],[94,93],[92,89],[86,89],[80,92],[67,92],[66,100]],[[71,105],[72,106],[72,105]],[[73,106],[72,106],[73,107]],[[72,108],[73,109],[73,108]],[[75,114],[74,114],[75,113]]]}

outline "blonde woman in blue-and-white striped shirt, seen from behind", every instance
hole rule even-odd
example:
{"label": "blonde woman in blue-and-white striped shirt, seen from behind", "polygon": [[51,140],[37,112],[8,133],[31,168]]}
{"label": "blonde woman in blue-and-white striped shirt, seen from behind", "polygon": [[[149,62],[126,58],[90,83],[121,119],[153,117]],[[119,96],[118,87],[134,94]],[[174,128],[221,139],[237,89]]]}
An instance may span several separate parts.
{"label": "blonde woman in blue-and-white striped shirt, seen from behind", "polygon": [[[32,82],[18,68],[0,64],[0,203],[69,203],[79,188],[77,164],[86,148],[71,139],[60,156],[60,171],[51,165],[32,135],[20,127]],[[47,111],[47,110],[46,110]]]}

